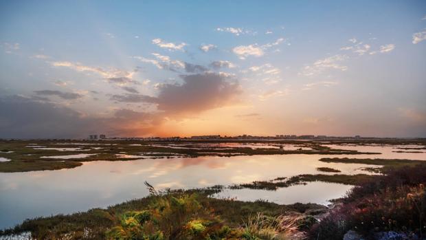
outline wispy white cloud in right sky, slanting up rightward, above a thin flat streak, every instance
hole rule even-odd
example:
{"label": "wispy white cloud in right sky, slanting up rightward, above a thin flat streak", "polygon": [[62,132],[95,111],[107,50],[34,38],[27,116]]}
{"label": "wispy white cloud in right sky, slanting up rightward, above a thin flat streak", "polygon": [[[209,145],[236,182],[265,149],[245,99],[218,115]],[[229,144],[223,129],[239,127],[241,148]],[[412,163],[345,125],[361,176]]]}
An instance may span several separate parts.
{"label": "wispy white cloud in right sky, slanting up rightward, above a thin flat streak", "polygon": [[301,74],[304,76],[313,76],[324,72],[326,69],[338,69],[340,71],[346,71],[348,67],[340,64],[346,58],[348,58],[348,56],[339,54],[329,56],[327,58],[322,58],[315,61],[313,65],[304,67]]}

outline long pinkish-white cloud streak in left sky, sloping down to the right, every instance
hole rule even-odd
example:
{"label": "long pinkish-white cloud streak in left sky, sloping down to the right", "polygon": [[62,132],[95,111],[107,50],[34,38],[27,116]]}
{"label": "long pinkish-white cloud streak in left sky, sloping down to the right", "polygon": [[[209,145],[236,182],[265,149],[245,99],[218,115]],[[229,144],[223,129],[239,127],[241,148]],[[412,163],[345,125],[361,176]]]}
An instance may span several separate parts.
{"label": "long pinkish-white cloud streak in left sky, sloping down to the right", "polygon": [[98,74],[108,80],[110,83],[115,83],[117,85],[126,85],[129,83],[137,84],[137,82],[132,79],[137,70],[128,72],[117,68],[104,69],[102,67],[90,67],[80,63],[71,63],[68,61],[58,61],[52,62],[50,64],[54,67],[68,67],[69,69],[73,69],[77,72],[91,72]]}

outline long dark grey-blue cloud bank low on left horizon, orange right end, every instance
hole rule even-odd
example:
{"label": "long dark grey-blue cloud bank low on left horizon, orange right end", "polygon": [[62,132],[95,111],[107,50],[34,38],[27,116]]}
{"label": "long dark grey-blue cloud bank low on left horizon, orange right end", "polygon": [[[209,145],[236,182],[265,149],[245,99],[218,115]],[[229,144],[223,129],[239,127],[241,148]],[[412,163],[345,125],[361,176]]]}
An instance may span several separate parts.
{"label": "long dark grey-blue cloud bank low on left horizon, orange right end", "polygon": [[113,136],[156,134],[161,114],[117,109],[110,117],[93,117],[52,102],[21,96],[0,98],[0,138],[87,138],[93,133]]}

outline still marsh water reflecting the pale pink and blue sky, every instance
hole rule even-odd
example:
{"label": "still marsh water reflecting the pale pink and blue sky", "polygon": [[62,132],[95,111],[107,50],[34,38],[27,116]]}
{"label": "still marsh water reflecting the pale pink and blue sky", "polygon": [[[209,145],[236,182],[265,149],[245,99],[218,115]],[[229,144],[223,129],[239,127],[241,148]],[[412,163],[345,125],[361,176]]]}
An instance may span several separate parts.
{"label": "still marsh water reflecting the pale pink and blue sky", "polygon": [[[233,157],[174,157],[85,162],[58,171],[0,173],[0,229],[24,219],[106,207],[148,195],[144,181],[158,189],[230,185],[320,173],[320,166],[342,174],[367,173],[363,164],[324,163],[322,157],[399,158],[426,160],[426,153],[395,153],[398,146],[335,146],[338,149],[378,152],[380,155],[254,155]],[[424,151],[424,150],[423,150]],[[327,173],[324,173],[327,174]],[[343,196],[350,186],[312,182],[307,185],[267,190],[225,190],[216,197],[243,201],[263,199],[278,204],[314,202]]]}

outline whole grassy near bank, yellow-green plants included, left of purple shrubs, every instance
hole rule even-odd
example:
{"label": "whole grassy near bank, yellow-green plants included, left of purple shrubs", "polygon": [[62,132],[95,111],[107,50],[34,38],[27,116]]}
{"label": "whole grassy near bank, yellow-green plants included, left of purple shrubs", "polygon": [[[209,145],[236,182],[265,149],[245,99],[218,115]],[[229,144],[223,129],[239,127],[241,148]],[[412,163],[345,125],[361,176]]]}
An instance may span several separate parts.
{"label": "whole grassy near bank, yellow-green plants included, left of purple shrubs", "polygon": [[[285,206],[265,201],[244,202],[208,197],[217,189],[220,186],[154,193],[106,209],[95,208],[72,215],[27,219],[15,228],[0,231],[0,236],[29,231],[36,239],[63,239],[65,236],[69,239],[131,239],[131,236],[142,236],[140,234],[154,239],[155,234],[161,232],[159,235],[163,239],[191,239],[186,231],[195,228],[193,230],[196,233],[204,229],[197,236],[209,234],[211,239],[265,239],[262,238],[265,237],[263,234],[275,236],[270,239],[284,239],[289,233],[286,229],[293,232],[304,218],[313,218],[304,212],[319,214],[326,210],[324,206],[317,204]],[[141,219],[146,219],[146,212],[151,218],[142,222]],[[259,216],[267,219],[265,222],[252,221],[253,216],[258,216],[258,212],[261,212]],[[297,224],[284,217],[289,213],[297,217]],[[266,224],[266,221],[269,223]],[[262,230],[263,228],[265,229]]]}

